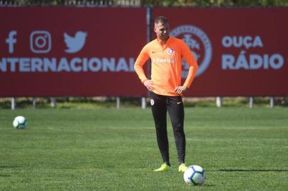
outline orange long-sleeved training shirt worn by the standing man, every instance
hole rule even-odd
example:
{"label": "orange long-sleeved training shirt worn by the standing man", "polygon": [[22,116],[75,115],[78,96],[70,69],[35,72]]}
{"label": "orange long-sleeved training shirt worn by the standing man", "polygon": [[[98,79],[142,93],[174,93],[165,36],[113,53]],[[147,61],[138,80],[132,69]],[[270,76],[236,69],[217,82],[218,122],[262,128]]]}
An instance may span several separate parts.
{"label": "orange long-sleeved training shirt worn by the standing man", "polygon": [[198,64],[189,47],[176,37],[169,37],[166,44],[160,45],[157,39],[149,42],[141,50],[135,61],[134,69],[143,82],[147,79],[143,65],[151,59],[151,79],[154,93],[163,96],[179,96],[174,90],[181,86],[182,58],[189,64],[189,71],[184,86],[189,88],[198,69]]}

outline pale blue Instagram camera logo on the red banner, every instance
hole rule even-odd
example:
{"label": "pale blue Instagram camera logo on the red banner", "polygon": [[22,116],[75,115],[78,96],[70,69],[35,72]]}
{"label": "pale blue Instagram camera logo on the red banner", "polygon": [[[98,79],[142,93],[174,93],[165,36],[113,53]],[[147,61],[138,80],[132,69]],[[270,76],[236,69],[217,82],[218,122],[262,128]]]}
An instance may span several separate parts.
{"label": "pale blue Instagram camera logo on the red banner", "polygon": [[30,48],[34,53],[47,53],[51,50],[51,35],[45,30],[33,31],[30,35]]}

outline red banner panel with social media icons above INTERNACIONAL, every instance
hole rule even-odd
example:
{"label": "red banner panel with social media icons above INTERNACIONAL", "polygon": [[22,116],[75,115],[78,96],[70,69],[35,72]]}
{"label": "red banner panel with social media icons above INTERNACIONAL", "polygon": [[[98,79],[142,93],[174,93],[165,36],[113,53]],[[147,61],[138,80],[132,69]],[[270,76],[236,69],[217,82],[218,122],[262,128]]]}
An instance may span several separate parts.
{"label": "red banner panel with social media icons above INTERNACIONAL", "polygon": [[0,97],[144,96],[145,8],[0,8]]}

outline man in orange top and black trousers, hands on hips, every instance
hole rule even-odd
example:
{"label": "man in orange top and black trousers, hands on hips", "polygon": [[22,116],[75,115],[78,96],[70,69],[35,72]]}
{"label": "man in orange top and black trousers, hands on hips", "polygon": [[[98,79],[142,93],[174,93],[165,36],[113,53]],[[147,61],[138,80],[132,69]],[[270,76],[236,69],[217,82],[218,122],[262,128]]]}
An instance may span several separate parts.
{"label": "man in orange top and black trousers, hands on hips", "polygon": [[[134,68],[140,80],[150,91],[150,104],[155,121],[157,144],[163,159],[163,164],[155,171],[165,171],[170,168],[169,144],[167,137],[167,111],[169,112],[177,155],[179,172],[187,169],[185,165],[186,139],[184,134],[184,105],[182,96],[192,84],[198,69],[189,47],[176,37],[170,37],[167,18],[159,16],[154,21],[154,32],[157,39],[149,42],[141,50]],[[189,72],[183,86],[182,58],[189,64]],[[151,59],[151,79],[145,76],[143,65]]]}

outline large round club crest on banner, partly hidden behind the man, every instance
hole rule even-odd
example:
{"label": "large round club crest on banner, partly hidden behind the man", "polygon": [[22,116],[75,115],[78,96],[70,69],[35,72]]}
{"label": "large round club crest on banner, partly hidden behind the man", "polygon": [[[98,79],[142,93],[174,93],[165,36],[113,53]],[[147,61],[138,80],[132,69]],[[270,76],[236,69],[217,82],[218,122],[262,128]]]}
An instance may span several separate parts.
{"label": "large round club crest on banner, partly hidden behind the man", "polygon": [[[170,35],[182,39],[193,52],[199,64],[196,76],[200,76],[208,68],[212,57],[212,45],[209,37],[203,30],[194,25],[180,25],[171,30]],[[189,65],[185,60],[182,62],[182,78],[186,78]]]}

